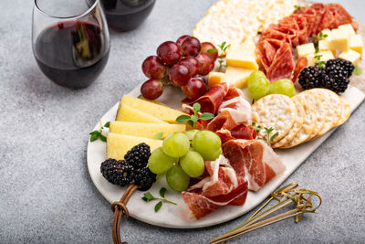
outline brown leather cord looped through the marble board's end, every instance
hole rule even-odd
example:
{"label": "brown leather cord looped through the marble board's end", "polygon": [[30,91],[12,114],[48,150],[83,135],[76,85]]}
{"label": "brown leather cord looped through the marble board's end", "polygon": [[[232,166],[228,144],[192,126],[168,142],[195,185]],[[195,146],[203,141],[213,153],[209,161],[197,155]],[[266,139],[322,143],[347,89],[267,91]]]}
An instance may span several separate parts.
{"label": "brown leather cord looped through the marble board's end", "polygon": [[113,223],[111,234],[113,236],[114,244],[128,244],[126,241],[121,241],[120,239],[120,222],[121,217],[129,217],[130,213],[128,208],[126,207],[128,201],[130,200],[130,196],[133,194],[135,190],[137,190],[140,186],[130,185],[127,190],[124,192],[123,196],[121,196],[119,202],[114,202],[111,205],[111,210],[114,212]]}

